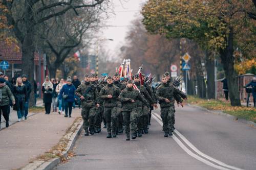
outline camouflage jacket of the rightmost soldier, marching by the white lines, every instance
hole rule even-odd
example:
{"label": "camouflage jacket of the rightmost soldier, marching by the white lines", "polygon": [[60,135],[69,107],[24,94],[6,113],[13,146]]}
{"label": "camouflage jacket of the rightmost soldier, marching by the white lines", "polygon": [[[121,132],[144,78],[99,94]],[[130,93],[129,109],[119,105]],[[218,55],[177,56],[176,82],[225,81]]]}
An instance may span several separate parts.
{"label": "camouflage jacket of the rightmost soldier, marching by the white lines", "polygon": [[[182,99],[180,94],[180,90],[173,85],[168,83],[161,84],[156,92],[156,98],[159,101],[160,107],[171,107],[174,106],[174,100],[176,99],[177,102],[182,103]],[[165,102],[165,99],[168,99],[170,103]]]}

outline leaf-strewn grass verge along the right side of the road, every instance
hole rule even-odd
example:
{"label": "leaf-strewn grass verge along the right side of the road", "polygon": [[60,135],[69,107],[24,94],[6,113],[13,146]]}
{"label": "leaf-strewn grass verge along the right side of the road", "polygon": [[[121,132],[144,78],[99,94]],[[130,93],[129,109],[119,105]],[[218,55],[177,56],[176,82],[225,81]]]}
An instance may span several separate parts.
{"label": "leaf-strewn grass verge along the right side of the road", "polygon": [[222,110],[224,113],[237,116],[239,118],[245,118],[256,123],[256,108],[245,106],[231,106],[229,102],[222,100],[207,100],[200,99],[196,96],[189,95],[187,103],[192,105],[198,105],[209,110]]}

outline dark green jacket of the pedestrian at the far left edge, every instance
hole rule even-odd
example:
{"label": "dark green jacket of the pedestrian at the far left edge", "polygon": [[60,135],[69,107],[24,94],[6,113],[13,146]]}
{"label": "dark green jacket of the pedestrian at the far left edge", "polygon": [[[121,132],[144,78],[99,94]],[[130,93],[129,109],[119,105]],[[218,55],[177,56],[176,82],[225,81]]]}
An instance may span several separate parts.
{"label": "dark green jacket of the pedestrian at the far left edge", "polygon": [[0,106],[9,105],[9,99],[11,99],[12,102],[15,101],[10,88],[7,85],[0,87]]}

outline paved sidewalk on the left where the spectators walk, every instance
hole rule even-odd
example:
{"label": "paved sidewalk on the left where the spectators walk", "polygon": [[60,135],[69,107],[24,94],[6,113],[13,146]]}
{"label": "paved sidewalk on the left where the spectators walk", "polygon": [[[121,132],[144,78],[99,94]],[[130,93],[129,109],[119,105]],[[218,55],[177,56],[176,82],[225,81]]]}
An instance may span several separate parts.
{"label": "paved sidewalk on the left where the spectators walk", "polygon": [[25,166],[40,154],[49,151],[66,133],[80,109],[72,111],[72,118],[54,112],[36,113],[27,120],[0,131],[0,169]]}

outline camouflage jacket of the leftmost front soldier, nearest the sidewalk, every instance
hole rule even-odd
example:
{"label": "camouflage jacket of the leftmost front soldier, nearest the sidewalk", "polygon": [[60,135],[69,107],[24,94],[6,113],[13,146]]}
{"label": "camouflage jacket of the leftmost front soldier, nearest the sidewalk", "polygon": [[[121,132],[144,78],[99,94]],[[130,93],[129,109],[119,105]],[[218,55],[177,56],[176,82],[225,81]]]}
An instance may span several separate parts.
{"label": "camouflage jacket of the leftmost front soldier, nearest the sidewalk", "polygon": [[[88,89],[90,90],[88,91]],[[82,107],[90,108],[96,106],[96,103],[98,103],[98,91],[96,89],[96,86],[91,84],[90,82],[85,82],[79,85],[75,90],[75,95],[77,95],[79,98],[82,95],[84,96],[85,100],[81,100]]]}

